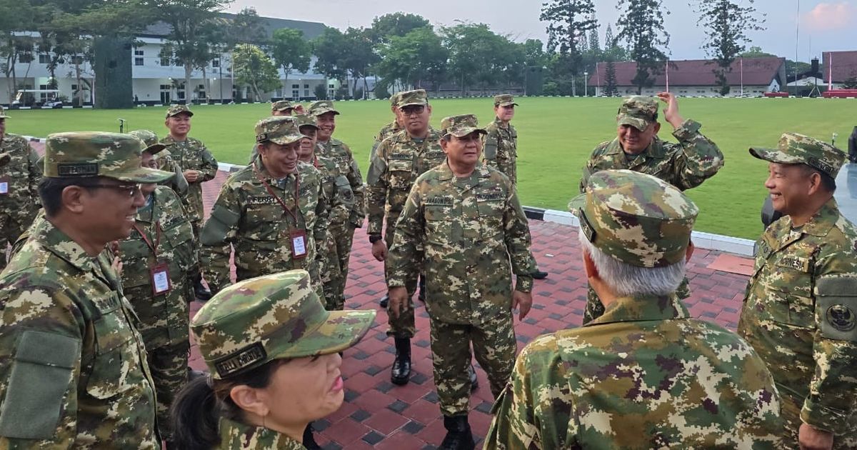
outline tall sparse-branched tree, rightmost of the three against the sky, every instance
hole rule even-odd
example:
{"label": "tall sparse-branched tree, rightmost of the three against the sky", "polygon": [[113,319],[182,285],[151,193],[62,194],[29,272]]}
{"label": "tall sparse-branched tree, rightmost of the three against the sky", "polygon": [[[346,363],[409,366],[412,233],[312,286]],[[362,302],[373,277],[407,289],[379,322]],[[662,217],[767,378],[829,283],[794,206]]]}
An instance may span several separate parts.
{"label": "tall sparse-branched tree, rightmost of the three against the sky", "polygon": [[753,0],[747,0],[746,6],[731,0],[698,1],[695,4],[699,15],[697,25],[704,27],[706,36],[702,48],[716,63],[714,74],[720,85],[720,94],[726,95],[729,93],[726,74],[732,71],[735,58],[746,50],[746,43],[750,40],[746,33],[764,29],[761,26],[764,15],[759,17],[756,14]]}

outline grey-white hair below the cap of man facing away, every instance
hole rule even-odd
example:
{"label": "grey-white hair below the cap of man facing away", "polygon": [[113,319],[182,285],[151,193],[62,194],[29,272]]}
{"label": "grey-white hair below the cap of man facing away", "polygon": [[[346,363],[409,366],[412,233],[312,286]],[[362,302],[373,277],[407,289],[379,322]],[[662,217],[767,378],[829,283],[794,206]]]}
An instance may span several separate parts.
{"label": "grey-white hair below the cap of man facing away", "polygon": [[580,247],[590,255],[602,279],[619,297],[665,296],[679,288],[685,278],[685,259],[664,267],[638,267],[607,255],[578,232]]}

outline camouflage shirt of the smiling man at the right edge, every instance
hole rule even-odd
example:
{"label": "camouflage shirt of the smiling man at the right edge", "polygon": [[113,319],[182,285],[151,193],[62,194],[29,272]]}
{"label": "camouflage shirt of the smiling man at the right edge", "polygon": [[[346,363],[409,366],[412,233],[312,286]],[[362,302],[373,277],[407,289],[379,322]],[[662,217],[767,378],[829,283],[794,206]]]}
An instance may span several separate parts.
{"label": "camouflage shirt of the smiling man at the right edge", "polygon": [[783,217],[758,242],[738,332],[768,364],[794,437],[803,421],[857,438],[855,249],[857,228],[833,199],[799,230]]}

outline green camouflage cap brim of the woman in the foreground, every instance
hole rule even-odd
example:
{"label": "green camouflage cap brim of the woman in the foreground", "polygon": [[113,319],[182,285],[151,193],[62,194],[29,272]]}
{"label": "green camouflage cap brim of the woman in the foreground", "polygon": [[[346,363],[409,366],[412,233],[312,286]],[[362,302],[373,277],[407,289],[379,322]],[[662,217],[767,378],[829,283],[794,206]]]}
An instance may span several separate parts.
{"label": "green camouflage cap brim of the woman in the foreground", "polygon": [[328,311],[327,321],[303,334],[297,343],[279,350],[273,346],[269,358],[314,357],[338,353],[354,346],[375,323],[375,309]]}

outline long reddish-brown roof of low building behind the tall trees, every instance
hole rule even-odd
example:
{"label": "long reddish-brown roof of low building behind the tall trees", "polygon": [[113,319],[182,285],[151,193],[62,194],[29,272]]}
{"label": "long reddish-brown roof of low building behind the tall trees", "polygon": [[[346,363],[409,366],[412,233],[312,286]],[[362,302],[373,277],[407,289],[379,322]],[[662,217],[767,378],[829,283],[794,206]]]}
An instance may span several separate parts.
{"label": "long reddish-brown roof of low building behind the tall trees", "polygon": [[[726,75],[730,85],[741,84],[741,72],[744,73],[744,84],[746,86],[768,86],[770,81],[776,78],[785,58],[782,57],[746,57],[743,59],[743,70],[741,60],[732,64],[732,72]],[[637,63],[614,63],[616,68],[616,84],[618,86],[632,86],[632,79],[637,72]],[[670,86],[716,86],[717,81],[713,70],[716,65],[711,60],[690,59],[669,62],[669,85]],[[590,86],[604,86],[607,80],[607,63],[598,63],[597,74],[591,75]],[[666,74],[655,77],[655,86],[666,85]]]}

